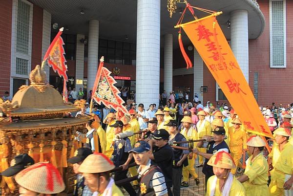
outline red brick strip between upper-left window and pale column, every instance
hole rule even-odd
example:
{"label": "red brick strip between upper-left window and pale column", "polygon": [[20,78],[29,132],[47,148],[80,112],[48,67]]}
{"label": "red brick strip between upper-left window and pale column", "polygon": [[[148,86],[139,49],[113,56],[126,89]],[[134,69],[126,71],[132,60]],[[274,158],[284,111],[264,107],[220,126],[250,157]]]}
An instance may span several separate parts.
{"label": "red brick strip between upper-left window and pale column", "polygon": [[33,31],[32,31],[32,69],[42,63],[42,22],[43,9],[33,6]]}

